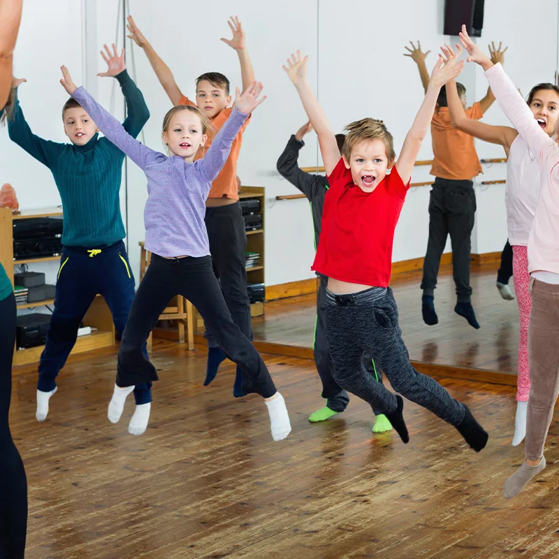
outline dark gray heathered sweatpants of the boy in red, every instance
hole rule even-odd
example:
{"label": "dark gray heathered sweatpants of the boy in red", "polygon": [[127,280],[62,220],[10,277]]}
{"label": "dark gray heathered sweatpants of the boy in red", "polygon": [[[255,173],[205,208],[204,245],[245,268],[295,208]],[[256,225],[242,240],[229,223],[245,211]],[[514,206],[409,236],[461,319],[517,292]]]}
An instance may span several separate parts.
{"label": "dark gray heathered sweatpants of the boy in red", "polygon": [[398,307],[390,287],[371,287],[346,295],[326,291],[324,315],[334,377],[342,388],[383,414],[395,412],[395,395],[361,367],[366,351],[396,392],[453,426],[462,423],[465,407],[451,398],[438,382],[417,372],[409,363],[398,326]]}

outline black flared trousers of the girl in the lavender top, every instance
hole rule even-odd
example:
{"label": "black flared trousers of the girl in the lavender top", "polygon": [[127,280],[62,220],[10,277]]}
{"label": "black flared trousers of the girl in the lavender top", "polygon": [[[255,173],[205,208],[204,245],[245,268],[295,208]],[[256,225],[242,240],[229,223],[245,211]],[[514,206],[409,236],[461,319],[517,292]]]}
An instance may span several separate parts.
{"label": "black flared trousers of the girl in the lavender top", "polygon": [[276,389],[266,365],[249,339],[231,319],[210,256],[165,259],[157,254],[138,287],[118,354],[117,386],[158,380],[157,371],[142,351],[159,315],[175,295],[196,307],[226,356],[242,368],[243,388],[270,398]]}

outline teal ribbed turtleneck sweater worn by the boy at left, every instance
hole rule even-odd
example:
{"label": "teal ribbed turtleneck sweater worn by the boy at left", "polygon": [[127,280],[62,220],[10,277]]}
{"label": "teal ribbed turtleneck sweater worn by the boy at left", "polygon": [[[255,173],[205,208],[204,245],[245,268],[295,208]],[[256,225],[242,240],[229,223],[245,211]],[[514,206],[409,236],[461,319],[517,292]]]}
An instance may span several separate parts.
{"label": "teal ribbed turtleneck sweater worn by the boy at left", "polygon": [[[126,70],[116,79],[128,108],[124,129],[136,138],[150,112]],[[64,212],[63,245],[94,248],[124,238],[119,203],[124,153],[98,134],[85,145],[43,140],[31,132],[17,100],[13,119],[8,121],[8,133],[17,145],[48,166],[55,177]]]}

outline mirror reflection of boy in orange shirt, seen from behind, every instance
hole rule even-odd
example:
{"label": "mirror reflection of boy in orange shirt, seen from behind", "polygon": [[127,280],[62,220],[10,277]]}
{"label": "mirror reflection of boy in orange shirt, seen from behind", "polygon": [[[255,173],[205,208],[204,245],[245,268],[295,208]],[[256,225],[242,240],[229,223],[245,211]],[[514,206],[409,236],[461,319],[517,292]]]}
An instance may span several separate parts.
{"label": "mirror reflection of boy in orange shirt, seen from behind", "polygon": [[[429,73],[425,59],[430,51],[422,52],[421,43],[417,47],[410,41],[412,48],[405,47],[409,54],[404,56],[414,60],[419,68],[423,89],[427,92]],[[493,62],[502,61],[503,52],[493,52]],[[470,119],[480,119],[495,101],[491,89],[484,99],[466,108],[466,89],[456,83],[458,95]],[[435,312],[434,291],[444,245],[450,235],[452,244],[452,276],[456,285],[456,307],[454,312],[464,317],[470,326],[479,328],[472,307],[472,288],[470,287],[470,250],[476,194],[473,178],[482,173],[481,164],[474,147],[474,138],[453,128],[447,104],[447,92],[442,87],[437,99],[435,114],[431,120],[433,139],[433,167],[430,174],[435,176],[429,198],[429,240],[423,261],[421,289],[423,298],[421,312],[423,321],[428,325],[439,321]]]}

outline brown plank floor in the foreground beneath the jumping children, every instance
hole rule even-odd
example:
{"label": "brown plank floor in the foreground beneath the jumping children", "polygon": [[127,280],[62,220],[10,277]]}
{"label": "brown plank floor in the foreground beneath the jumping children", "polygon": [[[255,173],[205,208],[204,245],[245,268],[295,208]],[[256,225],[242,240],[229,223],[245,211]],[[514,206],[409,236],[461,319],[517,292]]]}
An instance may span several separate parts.
{"label": "brown plank floor in the foreground beneath the jumping children", "polygon": [[511,447],[514,389],[443,380],[490,433],[482,453],[406,403],[410,443],[372,435],[368,405],[325,423],[311,361],[264,356],[293,432],[273,442],[266,407],[231,397],[234,366],[201,382],[205,351],[158,342],[147,432],[106,419],[115,352],[76,356],[37,423],[36,372],[14,371],[11,424],[27,469],[27,559],[530,559],[559,557],[558,416],[549,466],[518,498],[502,498],[521,463]]}

